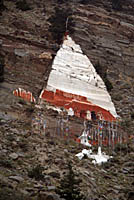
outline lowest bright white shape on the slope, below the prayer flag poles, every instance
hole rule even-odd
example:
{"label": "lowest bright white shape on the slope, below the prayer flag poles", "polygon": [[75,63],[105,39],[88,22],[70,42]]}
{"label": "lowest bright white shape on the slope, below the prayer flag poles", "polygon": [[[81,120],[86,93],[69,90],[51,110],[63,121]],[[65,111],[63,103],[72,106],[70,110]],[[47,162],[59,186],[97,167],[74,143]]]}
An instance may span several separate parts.
{"label": "lowest bright white shape on the slope, below the prayer flag poles", "polygon": [[76,154],[76,156],[81,160],[84,156],[93,159],[92,163],[101,165],[102,163],[107,162],[112,156],[108,156],[105,153],[101,152],[101,147],[98,147],[98,153],[92,154],[92,150],[83,149],[82,152]]}

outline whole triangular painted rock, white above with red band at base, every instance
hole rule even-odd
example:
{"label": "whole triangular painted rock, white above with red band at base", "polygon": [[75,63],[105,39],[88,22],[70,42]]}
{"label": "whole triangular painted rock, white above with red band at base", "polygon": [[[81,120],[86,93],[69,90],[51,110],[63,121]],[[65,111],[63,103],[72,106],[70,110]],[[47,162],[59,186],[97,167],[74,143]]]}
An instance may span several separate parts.
{"label": "whole triangular painted rock, white above with red band at base", "polygon": [[78,117],[116,120],[117,114],[106,86],[80,45],[67,35],[53,60],[47,86],[40,98],[74,111]]}

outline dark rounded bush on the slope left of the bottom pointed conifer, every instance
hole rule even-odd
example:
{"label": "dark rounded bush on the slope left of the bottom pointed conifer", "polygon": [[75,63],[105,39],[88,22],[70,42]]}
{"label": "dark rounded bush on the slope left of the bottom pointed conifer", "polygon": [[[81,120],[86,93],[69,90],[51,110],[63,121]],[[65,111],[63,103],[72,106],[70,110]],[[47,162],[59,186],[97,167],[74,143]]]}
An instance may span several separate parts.
{"label": "dark rounded bush on the slope left of the bottom pointed conifer", "polygon": [[30,178],[35,178],[35,180],[43,180],[44,175],[42,174],[43,167],[41,165],[37,165],[32,169],[28,170],[28,176]]}

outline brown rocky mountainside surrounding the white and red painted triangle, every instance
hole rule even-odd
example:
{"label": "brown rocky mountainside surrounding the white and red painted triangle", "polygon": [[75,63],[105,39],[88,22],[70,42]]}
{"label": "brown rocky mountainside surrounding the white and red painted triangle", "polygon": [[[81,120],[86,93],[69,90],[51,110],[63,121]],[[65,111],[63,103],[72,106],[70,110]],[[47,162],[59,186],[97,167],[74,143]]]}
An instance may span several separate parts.
{"label": "brown rocky mountainside surrounding the white and red painted triangle", "polygon": [[[16,0],[4,1],[0,15],[0,55],[5,59],[5,80],[0,83],[0,199],[58,199],[54,190],[68,159],[82,179],[81,189],[88,200],[134,198],[132,139],[101,167],[88,159],[79,161],[75,154],[83,146],[53,134],[56,112],[42,111],[48,124],[46,136],[33,133],[31,120],[38,108],[13,96],[13,90],[20,87],[38,100],[68,17],[71,37],[111,82],[110,94],[123,118],[122,127],[132,135],[134,1],[121,2],[122,8],[115,10],[110,0],[27,0],[25,9]],[[77,132],[83,121],[71,119],[70,126]]]}

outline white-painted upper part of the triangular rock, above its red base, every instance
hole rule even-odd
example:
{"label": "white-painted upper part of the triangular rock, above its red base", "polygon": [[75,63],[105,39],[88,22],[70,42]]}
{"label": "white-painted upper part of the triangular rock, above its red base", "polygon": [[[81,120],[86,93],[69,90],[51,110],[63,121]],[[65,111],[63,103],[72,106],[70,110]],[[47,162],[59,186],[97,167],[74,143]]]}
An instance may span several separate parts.
{"label": "white-painted upper part of the triangular rock, above its red base", "polygon": [[117,117],[114,104],[101,77],[70,36],[64,40],[53,61],[47,89],[77,94]]}

